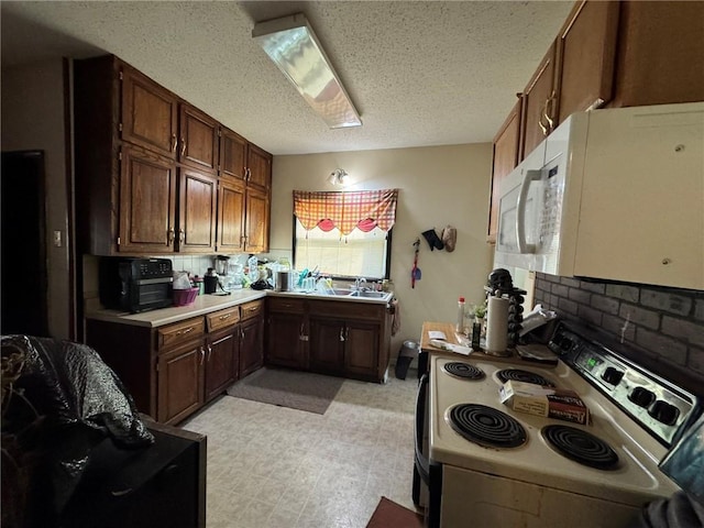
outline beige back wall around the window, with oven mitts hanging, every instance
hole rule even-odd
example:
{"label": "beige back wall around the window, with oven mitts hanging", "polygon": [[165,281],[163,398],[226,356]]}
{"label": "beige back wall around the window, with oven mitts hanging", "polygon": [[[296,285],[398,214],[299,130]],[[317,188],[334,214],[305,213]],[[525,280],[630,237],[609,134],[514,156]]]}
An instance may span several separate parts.
{"label": "beige back wall around the window, with oven mitts hanging", "polygon": [[[273,166],[271,254],[292,251],[293,198],[297,190],[341,190],[327,182],[336,168],[351,177],[350,190],[398,188],[392,250],[392,280],[402,308],[403,340],[418,340],[424,321],[454,321],[460,295],[468,302],[484,298],[493,252],[485,242],[492,172],[491,143],[395,148],[297,156],[275,156]],[[421,232],[458,230],[454,252],[431,252]],[[420,237],[422,278],[410,287],[413,243]]]}

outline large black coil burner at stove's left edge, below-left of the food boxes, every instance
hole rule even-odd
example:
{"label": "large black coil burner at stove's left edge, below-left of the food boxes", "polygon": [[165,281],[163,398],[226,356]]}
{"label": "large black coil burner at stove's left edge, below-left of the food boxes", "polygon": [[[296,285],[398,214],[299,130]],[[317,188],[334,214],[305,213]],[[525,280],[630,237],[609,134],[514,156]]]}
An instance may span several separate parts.
{"label": "large black coil burner at stove's left edge, below-left of the food boxes", "polygon": [[449,422],[460,436],[484,448],[518,448],[528,439],[518,420],[485,405],[457,405]]}

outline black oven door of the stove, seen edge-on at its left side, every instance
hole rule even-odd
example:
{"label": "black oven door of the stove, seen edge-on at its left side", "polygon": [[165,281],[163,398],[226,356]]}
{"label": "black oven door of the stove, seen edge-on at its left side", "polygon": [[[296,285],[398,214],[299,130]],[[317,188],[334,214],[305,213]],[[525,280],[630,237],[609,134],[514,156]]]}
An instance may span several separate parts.
{"label": "black oven door of the stove, seen edge-on at its left side", "polygon": [[413,498],[416,506],[426,509],[426,526],[440,527],[440,497],[442,494],[442,466],[430,460],[429,416],[428,416],[428,373],[418,382],[416,395],[416,430]]}

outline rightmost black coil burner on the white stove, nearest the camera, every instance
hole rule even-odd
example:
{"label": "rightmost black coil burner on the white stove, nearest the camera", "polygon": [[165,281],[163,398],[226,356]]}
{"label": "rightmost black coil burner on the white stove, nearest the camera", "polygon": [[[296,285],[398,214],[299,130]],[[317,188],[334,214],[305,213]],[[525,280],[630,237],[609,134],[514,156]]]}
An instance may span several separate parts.
{"label": "rightmost black coil burner on the white stove, nearest the camera", "polygon": [[597,470],[615,470],[618,455],[594,435],[570,426],[546,426],[540,430],[548,444],[580,464]]}

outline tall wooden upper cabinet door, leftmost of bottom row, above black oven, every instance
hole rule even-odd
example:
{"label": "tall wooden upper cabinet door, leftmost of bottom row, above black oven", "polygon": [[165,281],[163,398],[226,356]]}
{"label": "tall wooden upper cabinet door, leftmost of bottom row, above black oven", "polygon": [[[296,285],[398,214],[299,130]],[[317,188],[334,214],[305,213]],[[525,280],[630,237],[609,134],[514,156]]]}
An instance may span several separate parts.
{"label": "tall wooden upper cabinet door, leftmost of bottom row, above black oven", "polygon": [[124,147],[121,157],[119,251],[154,255],[173,252],[174,162],[132,147]]}

